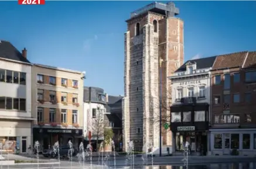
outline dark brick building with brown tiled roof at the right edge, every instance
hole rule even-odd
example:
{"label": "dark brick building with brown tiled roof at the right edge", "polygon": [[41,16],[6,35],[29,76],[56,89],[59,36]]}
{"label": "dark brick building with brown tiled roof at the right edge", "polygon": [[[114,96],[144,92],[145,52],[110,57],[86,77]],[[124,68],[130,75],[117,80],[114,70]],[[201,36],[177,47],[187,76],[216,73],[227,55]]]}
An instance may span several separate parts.
{"label": "dark brick building with brown tiled roof at the right edge", "polygon": [[256,155],[256,52],[216,57],[211,70],[209,154]]}

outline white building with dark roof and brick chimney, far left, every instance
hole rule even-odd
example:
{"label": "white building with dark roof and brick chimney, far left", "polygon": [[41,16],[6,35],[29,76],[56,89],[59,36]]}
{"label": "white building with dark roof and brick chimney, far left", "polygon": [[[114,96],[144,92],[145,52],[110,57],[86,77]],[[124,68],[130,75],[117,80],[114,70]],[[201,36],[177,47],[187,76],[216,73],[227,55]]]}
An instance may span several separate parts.
{"label": "white building with dark roof and brick chimney, far left", "polygon": [[28,153],[32,144],[31,68],[26,49],[0,41],[0,151]]}

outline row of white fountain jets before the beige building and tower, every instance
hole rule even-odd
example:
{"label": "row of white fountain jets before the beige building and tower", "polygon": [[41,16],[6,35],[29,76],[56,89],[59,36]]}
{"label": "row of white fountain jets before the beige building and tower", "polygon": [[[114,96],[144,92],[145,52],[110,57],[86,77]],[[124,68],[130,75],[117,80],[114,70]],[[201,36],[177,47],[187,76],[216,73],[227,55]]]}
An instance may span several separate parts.
{"label": "row of white fountain jets before the beige building and tower", "polygon": [[[69,140],[68,142],[68,146],[70,147],[69,149],[69,152],[68,152],[68,157],[70,159],[70,162],[71,162],[71,168],[72,168],[72,161],[73,161],[73,143],[71,142],[71,140]],[[126,156],[126,163],[128,165],[128,163],[131,165],[131,168],[134,168],[134,142],[130,141],[128,142],[127,144],[128,146],[128,151],[127,151],[127,156]],[[34,147],[35,147],[35,150],[37,150],[37,168],[39,168],[39,147],[40,147],[40,143],[38,141],[35,142],[34,144]],[[59,149],[59,142],[56,142],[54,143],[53,145],[53,153],[54,155],[57,155],[57,158],[59,160],[59,168],[60,168],[60,149]],[[116,163],[115,163],[115,143],[114,141],[112,140],[111,142],[111,147],[112,149],[114,150],[113,151],[113,157],[114,157],[114,168],[116,166]],[[98,151],[98,165],[102,165],[103,167],[107,165],[107,161],[109,160],[110,158],[110,154],[107,154],[106,156],[104,156],[104,151],[103,151],[103,142],[100,143],[100,150],[101,151]],[[145,154],[143,154],[143,156],[141,157],[144,164],[148,164],[148,153],[149,153],[149,150],[153,151],[153,146],[152,144],[145,144],[144,147],[143,147],[143,150],[145,152]],[[91,165],[91,168],[93,167],[92,165],[92,147],[91,147],[91,144],[87,144],[87,148],[86,150],[84,150],[84,144],[83,142],[80,143],[79,145],[79,150],[78,150],[78,153],[77,153],[77,158],[78,158],[78,162],[80,163],[80,165],[83,164],[83,168],[84,168],[84,165],[85,165],[85,162],[86,161],[90,161],[90,165]],[[151,153],[151,165],[153,165],[153,153]]]}

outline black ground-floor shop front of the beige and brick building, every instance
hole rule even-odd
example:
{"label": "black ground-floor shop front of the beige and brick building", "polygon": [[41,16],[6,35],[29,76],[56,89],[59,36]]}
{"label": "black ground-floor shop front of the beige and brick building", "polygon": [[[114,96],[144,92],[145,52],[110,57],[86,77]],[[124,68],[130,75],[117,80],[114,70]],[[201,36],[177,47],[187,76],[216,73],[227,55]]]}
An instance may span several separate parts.
{"label": "black ground-floor shop front of the beige and brick building", "polygon": [[39,141],[42,150],[49,149],[56,142],[60,146],[67,145],[69,140],[78,147],[83,141],[83,129],[33,128],[33,142]]}

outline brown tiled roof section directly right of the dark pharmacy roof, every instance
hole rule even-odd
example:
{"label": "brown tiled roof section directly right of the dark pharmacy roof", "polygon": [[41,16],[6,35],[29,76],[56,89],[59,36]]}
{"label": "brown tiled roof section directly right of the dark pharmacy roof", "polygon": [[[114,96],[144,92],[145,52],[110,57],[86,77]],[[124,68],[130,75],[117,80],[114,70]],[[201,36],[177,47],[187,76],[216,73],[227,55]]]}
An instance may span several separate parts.
{"label": "brown tiled roof section directly right of the dark pharmacy roof", "polygon": [[237,53],[219,55],[216,57],[212,70],[242,67],[247,53],[248,51],[240,51]]}

